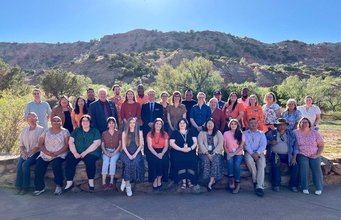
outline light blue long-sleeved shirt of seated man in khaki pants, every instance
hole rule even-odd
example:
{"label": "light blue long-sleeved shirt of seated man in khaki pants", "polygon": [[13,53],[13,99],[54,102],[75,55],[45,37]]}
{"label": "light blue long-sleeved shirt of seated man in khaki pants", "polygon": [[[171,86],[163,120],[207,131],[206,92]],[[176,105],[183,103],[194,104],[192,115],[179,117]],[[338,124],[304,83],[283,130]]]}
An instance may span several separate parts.
{"label": "light blue long-sleeved shirt of seated man in khaki pants", "polygon": [[256,152],[261,154],[265,151],[267,140],[265,134],[262,131],[256,130],[254,133],[252,133],[249,129],[243,133],[245,135],[244,151],[247,151],[250,154]]}

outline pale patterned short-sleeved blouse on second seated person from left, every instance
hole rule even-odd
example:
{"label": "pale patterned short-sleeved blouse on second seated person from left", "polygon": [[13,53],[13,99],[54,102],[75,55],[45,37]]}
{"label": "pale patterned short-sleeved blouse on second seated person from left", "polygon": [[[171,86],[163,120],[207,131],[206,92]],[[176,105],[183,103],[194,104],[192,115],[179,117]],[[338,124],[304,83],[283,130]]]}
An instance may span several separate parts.
{"label": "pale patterned short-sleeved blouse on second seated person from left", "polygon": [[[42,138],[45,138],[44,146],[47,151],[57,152],[64,147],[65,138],[70,137],[70,133],[68,129],[65,129],[63,127],[61,127],[61,129],[62,129],[61,132],[54,135],[50,133],[50,128],[47,128],[44,130],[43,134],[40,136]],[[62,154],[59,154],[57,157],[61,157],[65,159],[68,153],[69,153],[69,150],[65,151]],[[51,161],[56,158],[56,157],[46,155],[45,153],[43,153],[43,151],[40,152],[40,155],[38,157],[41,157],[44,161]]]}

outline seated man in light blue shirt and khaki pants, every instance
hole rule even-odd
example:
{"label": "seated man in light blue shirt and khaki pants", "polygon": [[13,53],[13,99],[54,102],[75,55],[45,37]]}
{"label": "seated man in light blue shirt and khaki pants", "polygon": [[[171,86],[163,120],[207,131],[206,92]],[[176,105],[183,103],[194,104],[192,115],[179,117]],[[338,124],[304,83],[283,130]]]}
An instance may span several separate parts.
{"label": "seated man in light blue shirt and khaki pants", "polygon": [[244,161],[252,174],[253,189],[257,195],[264,196],[264,168],[266,160],[264,150],[266,148],[265,134],[257,130],[258,122],[255,118],[249,120],[249,129],[244,131]]}

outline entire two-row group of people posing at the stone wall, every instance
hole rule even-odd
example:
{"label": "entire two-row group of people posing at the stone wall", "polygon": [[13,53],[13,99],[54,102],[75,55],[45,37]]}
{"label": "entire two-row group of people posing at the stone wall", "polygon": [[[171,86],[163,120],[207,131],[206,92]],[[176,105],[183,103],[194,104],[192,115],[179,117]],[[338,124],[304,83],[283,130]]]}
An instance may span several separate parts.
{"label": "entire two-row group of people posing at the stone wall", "polygon": [[[202,179],[209,179],[207,190],[216,185],[215,178],[224,175],[224,159],[227,160],[229,188],[233,194],[240,188],[240,163],[244,160],[252,174],[254,191],[263,196],[266,159],[271,161],[271,182],[274,191],[281,185],[280,162],[291,170],[289,186],[297,192],[299,179],[303,193],[308,194],[309,167],[312,170],[315,194],[321,194],[323,177],[320,154],[323,139],[318,133],[321,111],[312,105],[312,97],[305,98],[304,106],[297,107],[295,99],[289,99],[286,110],[276,104],[273,93],[264,97],[260,107],[255,95],[249,97],[248,88],[232,92],[227,102],[221,101],[220,91],[214,91],[208,105],[205,93],[199,92],[193,100],[193,92],[187,90],[185,99],[181,93],[162,92],[157,103],[156,92],[137,86],[137,94],[128,90],[122,97],[119,85],[112,88],[114,96],[108,98],[105,88],[95,98],[93,88],[88,88],[87,99],[78,97],[75,108],[66,96],[59,99],[51,111],[42,101],[41,92],[34,89],[34,100],[25,109],[30,126],[20,135],[21,155],[17,165],[16,194],[26,194],[30,185],[30,166],[35,165],[35,191],[45,191],[44,175],[52,161],[55,175],[55,195],[62,192],[61,163],[66,161],[66,186],[73,187],[76,165],[83,160],[86,165],[89,190],[94,190],[95,162],[102,156],[102,187],[112,189],[116,161],[123,163],[121,191],[132,196],[133,180],[144,181],[148,162],[148,181],[154,190],[162,188],[168,179],[181,184],[182,189],[198,183],[198,165]],[[47,120],[51,120],[48,128]],[[197,149],[198,147],[198,149]],[[244,155],[243,155],[244,151]],[[264,154],[266,152],[266,154]],[[170,168],[169,168],[170,161]],[[169,168],[169,174],[168,174]],[[106,177],[110,176],[107,185]]]}

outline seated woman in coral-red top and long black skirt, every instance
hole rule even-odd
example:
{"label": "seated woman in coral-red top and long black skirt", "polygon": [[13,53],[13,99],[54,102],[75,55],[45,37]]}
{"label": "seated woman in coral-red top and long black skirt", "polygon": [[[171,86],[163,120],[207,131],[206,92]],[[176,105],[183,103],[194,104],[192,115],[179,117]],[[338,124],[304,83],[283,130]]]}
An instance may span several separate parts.
{"label": "seated woman in coral-red top and long black skirt", "polygon": [[153,183],[153,190],[162,188],[162,181],[168,182],[168,144],[169,136],[164,131],[163,121],[155,119],[152,130],[147,134],[150,154],[148,159],[148,181]]}

